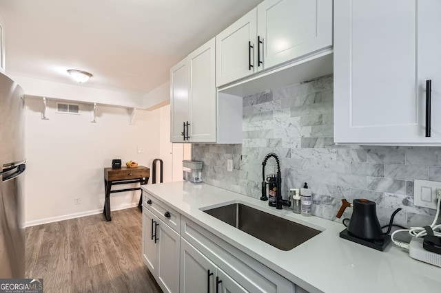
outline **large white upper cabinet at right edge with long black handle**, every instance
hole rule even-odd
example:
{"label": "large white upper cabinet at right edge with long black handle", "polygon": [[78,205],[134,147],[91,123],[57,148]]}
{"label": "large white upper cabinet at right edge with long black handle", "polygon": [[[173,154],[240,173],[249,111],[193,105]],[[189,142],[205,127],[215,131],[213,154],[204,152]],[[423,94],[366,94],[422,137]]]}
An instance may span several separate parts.
{"label": "large white upper cabinet at right edge with long black handle", "polygon": [[440,15],[437,0],[336,1],[335,142],[441,143]]}

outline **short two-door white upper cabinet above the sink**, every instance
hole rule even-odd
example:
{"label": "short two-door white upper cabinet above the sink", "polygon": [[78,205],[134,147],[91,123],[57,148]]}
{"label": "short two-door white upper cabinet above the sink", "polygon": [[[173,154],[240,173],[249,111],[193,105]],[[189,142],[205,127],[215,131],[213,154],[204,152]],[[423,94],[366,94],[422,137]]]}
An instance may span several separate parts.
{"label": "short two-door white upper cabinet above the sink", "polygon": [[331,46],[331,0],[263,1],[216,36],[216,86]]}

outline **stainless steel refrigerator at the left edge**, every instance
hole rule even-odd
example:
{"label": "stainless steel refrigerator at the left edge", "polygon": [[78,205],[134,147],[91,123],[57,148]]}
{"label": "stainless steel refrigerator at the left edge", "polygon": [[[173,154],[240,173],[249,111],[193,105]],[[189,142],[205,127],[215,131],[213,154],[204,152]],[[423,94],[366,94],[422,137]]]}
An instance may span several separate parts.
{"label": "stainless steel refrigerator at the left edge", "polygon": [[0,279],[24,278],[23,89],[0,74]]}

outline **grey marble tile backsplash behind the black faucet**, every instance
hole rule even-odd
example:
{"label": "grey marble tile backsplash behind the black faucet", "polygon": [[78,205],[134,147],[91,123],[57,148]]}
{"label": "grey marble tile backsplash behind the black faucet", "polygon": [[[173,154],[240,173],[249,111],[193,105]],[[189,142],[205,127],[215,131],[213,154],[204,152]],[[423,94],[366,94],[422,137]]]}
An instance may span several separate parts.
{"label": "grey marble tile backsplash behind the black faucet", "polygon": [[[247,96],[243,144],[194,144],[192,156],[204,162],[207,184],[260,198],[262,160],[276,153],[283,196],[307,182],[318,217],[340,222],[342,198],[367,198],[376,202],[382,224],[396,208],[402,208],[396,224],[431,224],[435,210],[413,206],[413,180],[441,181],[441,147],[336,145],[333,111],[332,75]],[[265,173],[275,165],[269,160]]]}

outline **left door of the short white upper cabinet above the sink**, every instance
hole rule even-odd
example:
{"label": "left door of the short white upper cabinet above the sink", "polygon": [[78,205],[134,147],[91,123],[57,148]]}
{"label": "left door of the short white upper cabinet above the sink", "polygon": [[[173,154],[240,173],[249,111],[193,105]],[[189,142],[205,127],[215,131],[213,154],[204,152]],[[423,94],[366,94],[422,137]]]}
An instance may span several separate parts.
{"label": "left door of the short white upper cabinet above the sink", "polygon": [[216,87],[255,72],[256,13],[254,8],[216,36]]}

